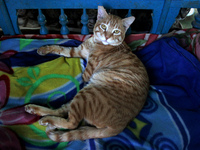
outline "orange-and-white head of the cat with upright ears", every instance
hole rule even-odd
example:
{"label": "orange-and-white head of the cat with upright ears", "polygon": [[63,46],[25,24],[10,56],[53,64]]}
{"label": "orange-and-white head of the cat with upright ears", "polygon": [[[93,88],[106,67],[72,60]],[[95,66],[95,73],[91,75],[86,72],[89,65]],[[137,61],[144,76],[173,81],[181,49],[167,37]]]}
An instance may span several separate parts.
{"label": "orange-and-white head of the cat with upright ears", "polygon": [[120,45],[134,20],[133,16],[121,19],[107,14],[103,6],[98,6],[97,22],[93,30],[95,42],[112,46]]}

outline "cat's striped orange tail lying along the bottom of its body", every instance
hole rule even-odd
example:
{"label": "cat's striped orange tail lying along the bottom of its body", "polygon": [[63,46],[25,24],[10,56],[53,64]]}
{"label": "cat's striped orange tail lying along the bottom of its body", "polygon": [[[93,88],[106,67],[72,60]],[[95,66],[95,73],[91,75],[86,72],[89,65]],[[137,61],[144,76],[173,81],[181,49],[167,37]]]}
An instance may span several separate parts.
{"label": "cat's striped orange tail lying along the bottom of its body", "polygon": [[123,129],[96,128],[90,126],[80,127],[71,131],[47,130],[47,135],[53,141],[68,142],[74,140],[87,140],[92,138],[105,138],[119,134]]}

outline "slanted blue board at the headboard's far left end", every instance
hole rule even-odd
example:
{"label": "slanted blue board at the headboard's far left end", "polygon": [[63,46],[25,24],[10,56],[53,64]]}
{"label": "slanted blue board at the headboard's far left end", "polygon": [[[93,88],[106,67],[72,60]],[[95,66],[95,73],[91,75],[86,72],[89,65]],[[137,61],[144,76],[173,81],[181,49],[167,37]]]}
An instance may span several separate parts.
{"label": "slanted blue board at the headboard's far left end", "polygon": [[0,27],[4,34],[15,35],[7,8],[3,0],[0,0]]}

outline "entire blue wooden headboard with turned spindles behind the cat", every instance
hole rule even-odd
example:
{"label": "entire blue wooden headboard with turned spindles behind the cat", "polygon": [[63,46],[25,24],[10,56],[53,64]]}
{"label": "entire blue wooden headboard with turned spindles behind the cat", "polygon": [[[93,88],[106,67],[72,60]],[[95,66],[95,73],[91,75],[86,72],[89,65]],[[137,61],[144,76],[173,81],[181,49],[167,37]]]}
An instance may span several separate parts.
{"label": "entire blue wooden headboard with turned spindles behind the cat", "polygon": [[[5,8],[5,5],[7,9]],[[0,0],[0,26],[4,34],[21,34],[17,22],[18,9],[83,9],[80,18],[83,23],[82,34],[88,34],[86,9],[97,9],[101,5],[106,9],[151,9],[153,25],[151,33],[164,34],[169,31],[181,8],[200,8],[200,0]],[[130,15],[130,13],[129,13]],[[45,16],[44,16],[45,17]],[[40,15],[40,19],[43,19]],[[198,19],[198,16],[196,17]],[[64,19],[64,20],[63,20]],[[61,13],[61,34],[68,34],[67,16]],[[39,20],[41,34],[47,34],[45,20]],[[130,30],[129,30],[130,33]]]}

